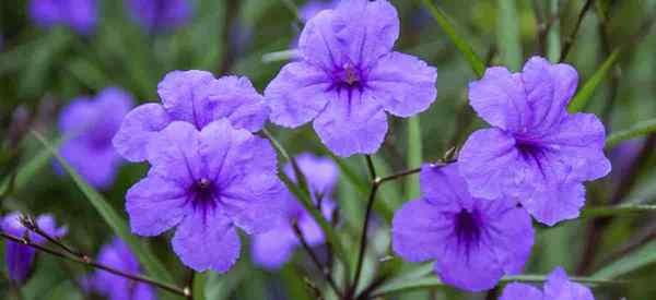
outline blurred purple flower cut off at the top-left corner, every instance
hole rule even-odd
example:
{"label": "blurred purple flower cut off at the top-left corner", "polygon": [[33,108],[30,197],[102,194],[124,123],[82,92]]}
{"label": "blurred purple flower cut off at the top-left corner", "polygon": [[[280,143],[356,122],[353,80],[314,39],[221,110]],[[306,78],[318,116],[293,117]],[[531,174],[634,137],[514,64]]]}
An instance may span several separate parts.
{"label": "blurred purple flower cut off at the top-left corner", "polygon": [[96,26],[97,3],[95,0],[31,0],[30,17],[40,27],[66,25],[89,35]]}

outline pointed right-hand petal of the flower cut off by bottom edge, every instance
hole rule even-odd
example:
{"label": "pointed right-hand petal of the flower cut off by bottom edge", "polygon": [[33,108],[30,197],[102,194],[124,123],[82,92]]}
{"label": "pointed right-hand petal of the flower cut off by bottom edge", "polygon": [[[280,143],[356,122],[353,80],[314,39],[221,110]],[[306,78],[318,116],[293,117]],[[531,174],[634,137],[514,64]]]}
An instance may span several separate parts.
{"label": "pointed right-hand petal of the flower cut off by bottom edge", "polygon": [[570,281],[565,271],[557,267],[544,284],[544,299],[595,300],[587,287]]}

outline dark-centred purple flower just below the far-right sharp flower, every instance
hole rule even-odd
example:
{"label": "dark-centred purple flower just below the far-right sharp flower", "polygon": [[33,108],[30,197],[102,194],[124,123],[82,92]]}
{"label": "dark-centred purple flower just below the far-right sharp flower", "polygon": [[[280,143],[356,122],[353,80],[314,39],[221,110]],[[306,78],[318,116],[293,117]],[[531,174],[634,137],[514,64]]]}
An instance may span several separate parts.
{"label": "dark-centred purple flower just below the far-right sharp flower", "polygon": [[396,212],[393,249],[410,262],[437,260],[442,281],[481,291],[523,271],[534,229],[528,213],[509,201],[471,196],[457,164],[423,167],[423,197]]}

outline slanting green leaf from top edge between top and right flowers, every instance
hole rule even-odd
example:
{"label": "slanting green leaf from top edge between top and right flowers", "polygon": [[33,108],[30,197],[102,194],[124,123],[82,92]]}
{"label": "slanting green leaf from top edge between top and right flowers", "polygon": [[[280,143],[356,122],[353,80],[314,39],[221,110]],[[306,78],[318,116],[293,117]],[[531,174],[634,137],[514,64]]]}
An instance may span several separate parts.
{"label": "slanting green leaf from top edge between top and right flowers", "polygon": [[458,36],[458,34],[456,34],[456,31],[448,21],[446,14],[435,7],[432,0],[422,0],[422,3],[424,7],[426,7],[426,9],[429,9],[448,38],[456,45],[456,48],[458,48],[458,50],[465,56],[465,59],[467,62],[469,62],[469,67],[471,67],[473,73],[476,73],[476,75],[479,77],[482,76],[485,72],[485,63],[483,63],[483,60],[476,55],[471,46],[467,44],[464,38]]}

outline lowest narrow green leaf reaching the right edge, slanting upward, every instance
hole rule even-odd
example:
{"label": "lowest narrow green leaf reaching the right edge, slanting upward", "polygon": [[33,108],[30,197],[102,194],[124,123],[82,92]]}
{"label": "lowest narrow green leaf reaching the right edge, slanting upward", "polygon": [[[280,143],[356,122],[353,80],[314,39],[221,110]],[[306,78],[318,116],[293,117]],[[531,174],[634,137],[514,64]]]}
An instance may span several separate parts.
{"label": "lowest narrow green leaf reaching the right edge, slanting upward", "polygon": [[593,278],[617,278],[646,265],[656,263],[656,241],[614,261],[593,275]]}

